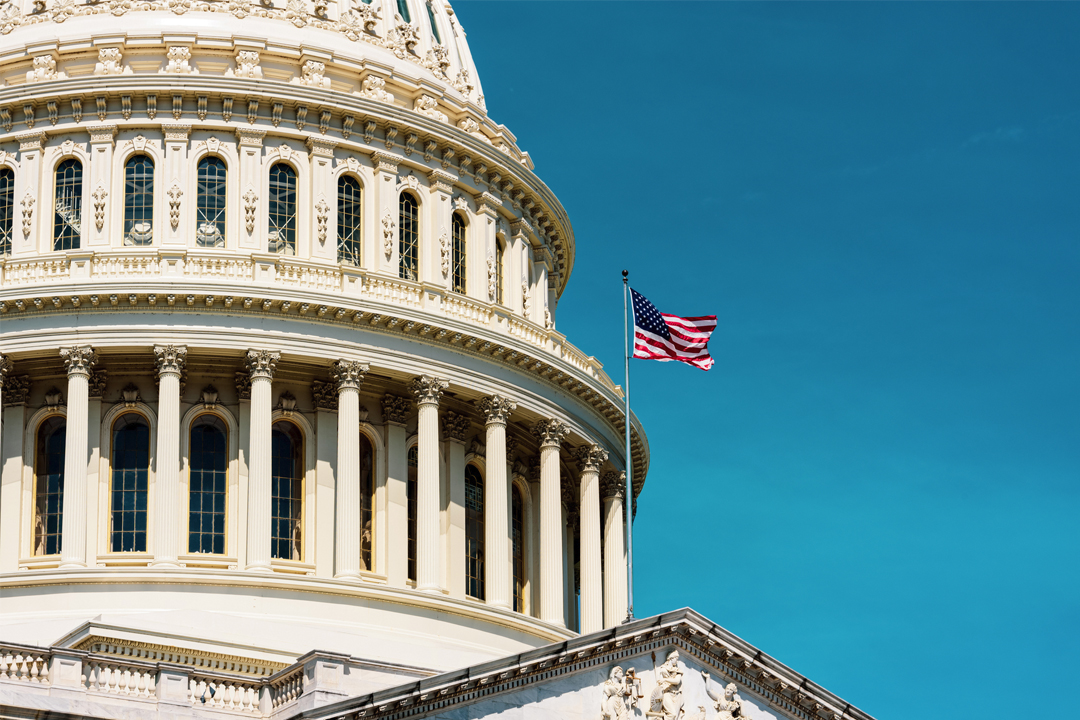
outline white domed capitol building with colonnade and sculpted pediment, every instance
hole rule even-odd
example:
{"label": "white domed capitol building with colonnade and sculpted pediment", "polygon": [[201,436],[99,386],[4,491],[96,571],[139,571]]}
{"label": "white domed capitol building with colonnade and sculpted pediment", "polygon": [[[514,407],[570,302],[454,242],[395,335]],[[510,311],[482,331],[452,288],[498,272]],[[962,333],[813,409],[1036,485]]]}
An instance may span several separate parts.
{"label": "white domed capitol building with colonnade and sculpted pediment", "polygon": [[448,3],[10,0],[0,58],[0,718],[868,718],[623,622],[648,441]]}

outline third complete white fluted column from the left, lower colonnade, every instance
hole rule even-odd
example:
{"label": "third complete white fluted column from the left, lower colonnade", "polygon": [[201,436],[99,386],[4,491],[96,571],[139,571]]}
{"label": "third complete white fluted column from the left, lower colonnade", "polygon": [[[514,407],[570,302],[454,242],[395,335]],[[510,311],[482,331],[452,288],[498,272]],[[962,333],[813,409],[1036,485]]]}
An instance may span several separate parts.
{"label": "third complete white fluted column from the left, lower colonnade", "polygon": [[247,569],[270,571],[270,500],[273,470],[270,433],[271,385],[281,353],[248,350],[252,378],[251,465],[247,475]]}

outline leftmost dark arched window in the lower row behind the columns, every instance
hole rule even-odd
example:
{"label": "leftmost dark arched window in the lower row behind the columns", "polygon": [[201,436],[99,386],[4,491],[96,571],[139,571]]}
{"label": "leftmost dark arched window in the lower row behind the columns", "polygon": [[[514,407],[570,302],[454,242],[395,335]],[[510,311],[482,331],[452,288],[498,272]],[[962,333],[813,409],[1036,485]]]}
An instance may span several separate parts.
{"label": "leftmost dark arched window in the lower row behind the columns", "polygon": [[33,554],[60,552],[64,519],[64,448],[67,421],[57,415],[38,425],[33,488]]}

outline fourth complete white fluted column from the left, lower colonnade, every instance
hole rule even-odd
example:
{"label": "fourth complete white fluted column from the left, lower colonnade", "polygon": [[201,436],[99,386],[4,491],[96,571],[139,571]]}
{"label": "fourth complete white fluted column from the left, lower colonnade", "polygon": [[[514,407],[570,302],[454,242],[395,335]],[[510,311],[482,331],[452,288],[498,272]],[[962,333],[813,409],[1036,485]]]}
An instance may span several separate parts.
{"label": "fourth complete white fluted column from the left, lower colonnade", "polygon": [[334,576],[360,580],[360,386],[368,366],[340,359],[330,367],[338,392],[338,472]]}

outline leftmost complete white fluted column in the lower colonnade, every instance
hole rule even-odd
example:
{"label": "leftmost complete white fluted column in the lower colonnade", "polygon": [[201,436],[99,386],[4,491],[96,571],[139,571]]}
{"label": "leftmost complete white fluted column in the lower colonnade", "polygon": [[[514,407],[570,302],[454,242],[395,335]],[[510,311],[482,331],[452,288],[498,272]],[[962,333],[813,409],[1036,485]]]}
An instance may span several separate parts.
{"label": "leftmost complete white fluted column in the lower colonnade", "polygon": [[86,410],[90,369],[97,354],[87,345],[64,348],[67,366],[67,438],[64,444],[64,519],[60,525],[60,568],[86,567]]}

